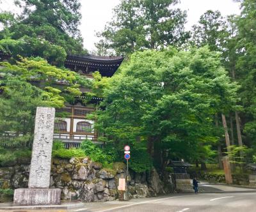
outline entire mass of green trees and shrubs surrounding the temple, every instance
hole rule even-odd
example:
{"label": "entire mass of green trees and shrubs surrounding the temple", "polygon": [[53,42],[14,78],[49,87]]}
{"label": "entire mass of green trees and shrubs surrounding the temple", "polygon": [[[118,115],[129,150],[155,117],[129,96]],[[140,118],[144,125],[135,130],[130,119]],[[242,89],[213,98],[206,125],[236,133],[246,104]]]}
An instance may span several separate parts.
{"label": "entire mass of green trees and shrubs surrounding the temple", "polygon": [[[101,55],[127,59],[112,79],[93,73],[87,93],[104,98],[92,114],[104,148],[87,140],[81,149],[60,145],[54,156],[86,155],[108,167],[124,160],[122,149],[129,144],[135,172],[152,165],[168,170],[170,160],[216,162],[217,154],[220,163],[223,154],[237,164],[255,160],[256,3],[241,1],[237,16],[205,11],[191,32],[184,29],[186,11],[178,3],[120,1],[97,47]],[[75,103],[79,87],[91,82],[56,67],[67,54],[86,53],[79,1],[17,5],[20,16],[0,13],[0,51],[12,55],[0,64],[0,134],[22,134],[13,139],[21,143],[31,140],[36,106]],[[8,154],[1,152],[0,163]]]}

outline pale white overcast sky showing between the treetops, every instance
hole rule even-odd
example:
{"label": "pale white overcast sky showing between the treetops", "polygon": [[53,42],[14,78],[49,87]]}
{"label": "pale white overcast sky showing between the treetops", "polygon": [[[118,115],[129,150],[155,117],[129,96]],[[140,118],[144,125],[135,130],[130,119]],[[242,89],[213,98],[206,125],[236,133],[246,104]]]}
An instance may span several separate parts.
{"label": "pale white overcast sky showing between the treetops", "polygon": [[[2,3],[1,10],[12,10],[13,0],[0,0]],[[233,0],[180,0],[179,5],[182,10],[188,11],[188,23],[186,28],[190,29],[193,24],[198,22],[200,15],[206,10],[220,10],[223,16],[239,14],[239,3]],[[113,15],[112,9],[120,0],[81,0],[81,33],[84,38],[84,47],[93,50],[94,43],[98,41],[95,36],[97,31],[102,31],[106,22],[111,20]],[[4,7],[4,8],[3,8]]]}

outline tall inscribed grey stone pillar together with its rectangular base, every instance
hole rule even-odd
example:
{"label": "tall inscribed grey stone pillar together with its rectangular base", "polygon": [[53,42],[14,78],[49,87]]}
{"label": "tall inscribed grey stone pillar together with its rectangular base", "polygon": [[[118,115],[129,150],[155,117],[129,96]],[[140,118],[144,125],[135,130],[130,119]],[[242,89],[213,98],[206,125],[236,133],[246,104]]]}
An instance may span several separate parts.
{"label": "tall inscribed grey stone pillar together with its rectangular base", "polygon": [[49,188],[55,109],[37,107],[28,188],[14,191],[18,205],[60,204],[61,189]]}

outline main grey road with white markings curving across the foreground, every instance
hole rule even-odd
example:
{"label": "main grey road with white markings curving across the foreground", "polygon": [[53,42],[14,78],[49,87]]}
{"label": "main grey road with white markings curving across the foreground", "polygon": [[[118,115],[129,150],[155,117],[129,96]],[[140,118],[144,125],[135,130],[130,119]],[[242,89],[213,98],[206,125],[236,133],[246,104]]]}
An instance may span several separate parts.
{"label": "main grey road with white markings curving across the foreground", "polygon": [[72,212],[255,212],[256,193],[199,193],[86,204]]}

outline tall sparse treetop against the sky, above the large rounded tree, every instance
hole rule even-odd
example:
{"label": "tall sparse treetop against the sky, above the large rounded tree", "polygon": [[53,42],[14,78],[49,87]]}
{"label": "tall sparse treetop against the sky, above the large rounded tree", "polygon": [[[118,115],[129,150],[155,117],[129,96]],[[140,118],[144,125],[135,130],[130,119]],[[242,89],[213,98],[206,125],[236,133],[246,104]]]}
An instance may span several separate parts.
{"label": "tall sparse treetop against the sky, above the large rounded tree", "polygon": [[113,20],[98,34],[105,39],[98,47],[113,49],[116,54],[130,54],[184,44],[189,37],[184,31],[186,12],[174,8],[177,3],[176,0],[122,0],[114,10]]}

